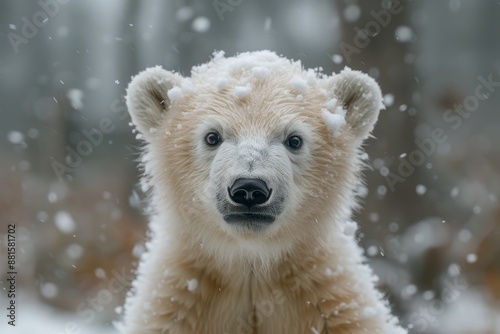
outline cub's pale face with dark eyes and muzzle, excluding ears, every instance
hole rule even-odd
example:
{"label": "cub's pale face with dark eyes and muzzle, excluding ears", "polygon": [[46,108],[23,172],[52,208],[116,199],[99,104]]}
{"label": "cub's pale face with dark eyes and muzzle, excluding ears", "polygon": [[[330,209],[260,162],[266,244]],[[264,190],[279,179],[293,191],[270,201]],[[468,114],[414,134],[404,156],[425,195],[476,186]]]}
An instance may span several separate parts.
{"label": "cub's pale face with dark eyes and muzzle, excluding ears", "polygon": [[200,200],[216,209],[229,233],[276,228],[309,192],[304,187],[312,182],[312,153],[320,145],[318,120],[281,88],[271,92],[274,85],[261,80],[245,98],[228,89],[217,93],[217,101],[195,102],[200,124],[189,136],[194,174],[203,173]]}

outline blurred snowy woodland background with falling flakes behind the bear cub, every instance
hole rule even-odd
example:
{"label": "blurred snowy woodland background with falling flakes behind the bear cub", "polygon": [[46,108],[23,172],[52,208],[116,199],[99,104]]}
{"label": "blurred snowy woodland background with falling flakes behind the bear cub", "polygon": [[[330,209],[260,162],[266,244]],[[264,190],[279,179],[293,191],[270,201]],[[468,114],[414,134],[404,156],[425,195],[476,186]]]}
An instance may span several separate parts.
{"label": "blurred snowy woodland background with falling flakes behind the bear cub", "polygon": [[0,2],[0,332],[115,333],[146,239],[130,77],[270,49],[382,87],[356,221],[403,324],[500,333],[499,18],[489,0]]}

